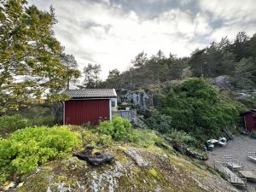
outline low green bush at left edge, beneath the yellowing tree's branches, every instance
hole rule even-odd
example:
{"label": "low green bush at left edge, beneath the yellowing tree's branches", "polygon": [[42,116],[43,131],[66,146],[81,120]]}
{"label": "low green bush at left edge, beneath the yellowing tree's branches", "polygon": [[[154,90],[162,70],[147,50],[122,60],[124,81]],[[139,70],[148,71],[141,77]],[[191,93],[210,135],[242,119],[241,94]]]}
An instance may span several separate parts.
{"label": "low green bush at left edge, beneath the yellowing tree's branches", "polygon": [[19,114],[15,115],[4,115],[0,117],[0,131],[1,132],[13,132],[28,126],[28,120],[21,117]]}

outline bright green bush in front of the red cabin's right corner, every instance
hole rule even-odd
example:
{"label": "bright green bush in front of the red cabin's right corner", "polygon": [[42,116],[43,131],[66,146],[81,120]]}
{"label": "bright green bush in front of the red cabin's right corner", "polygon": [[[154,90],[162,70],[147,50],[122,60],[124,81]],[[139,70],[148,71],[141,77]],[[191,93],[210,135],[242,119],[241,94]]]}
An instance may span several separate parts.
{"label": "bright green bush in front of the red cabin's right corner", "polygon": [[103,121],[98,130],[101,134],[111,136],[115,140],[120,140],[127,137],[131,132],[131,123],[128,119],[123,119],[119,116],[112,120]]}

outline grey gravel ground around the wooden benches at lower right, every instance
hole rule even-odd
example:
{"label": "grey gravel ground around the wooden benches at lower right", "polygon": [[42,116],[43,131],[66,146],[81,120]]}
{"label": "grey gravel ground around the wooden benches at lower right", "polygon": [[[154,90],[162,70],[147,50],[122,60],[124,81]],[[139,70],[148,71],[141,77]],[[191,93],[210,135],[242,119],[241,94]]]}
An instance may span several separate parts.
{"label": "grey gravel ground around the wooden benches at lower right", "polygon": [[[236,137],[229,141],[224,148],[214,148],[213,151],[207,152],[209,160],[207,164],[212,165],[212,160],[221,160],[224,155],[232,154],[233,158],[241,161],[244,166],[243,170],[256,173],[256,163],[247,160],[247,152],[256,151],[256,140],[250,137]],[[255,192],[256,183],[247,182],[247,191]]]}

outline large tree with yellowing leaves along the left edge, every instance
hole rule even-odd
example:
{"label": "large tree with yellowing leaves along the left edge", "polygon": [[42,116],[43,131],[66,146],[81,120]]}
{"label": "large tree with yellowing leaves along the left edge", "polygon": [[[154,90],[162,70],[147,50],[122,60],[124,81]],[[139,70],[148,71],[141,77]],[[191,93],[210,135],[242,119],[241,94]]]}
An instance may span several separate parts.
{"label": "large tree with yellowing leaves along the left edge", "polygon": [[[26,0],[2,0],[0,6],[0,114],[33,101],[61,99],[57,90],[67,84],[69,72],[54,37],[53,9],[43,12]],[[55,90],[47,93],[47,90]]]}

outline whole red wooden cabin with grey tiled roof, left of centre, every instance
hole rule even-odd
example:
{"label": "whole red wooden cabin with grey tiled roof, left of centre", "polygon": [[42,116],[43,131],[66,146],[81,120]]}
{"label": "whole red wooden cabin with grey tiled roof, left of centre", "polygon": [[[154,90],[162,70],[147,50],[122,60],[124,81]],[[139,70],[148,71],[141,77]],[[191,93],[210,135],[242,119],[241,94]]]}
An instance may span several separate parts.
{"label": "whole red wooden cabin with grey tiled roof, left of centre", "polygon": [[65,90],[70,96],[63,102],[64,125],[97,125],[101,120],[111,119],[117,96],[113,89]]}

